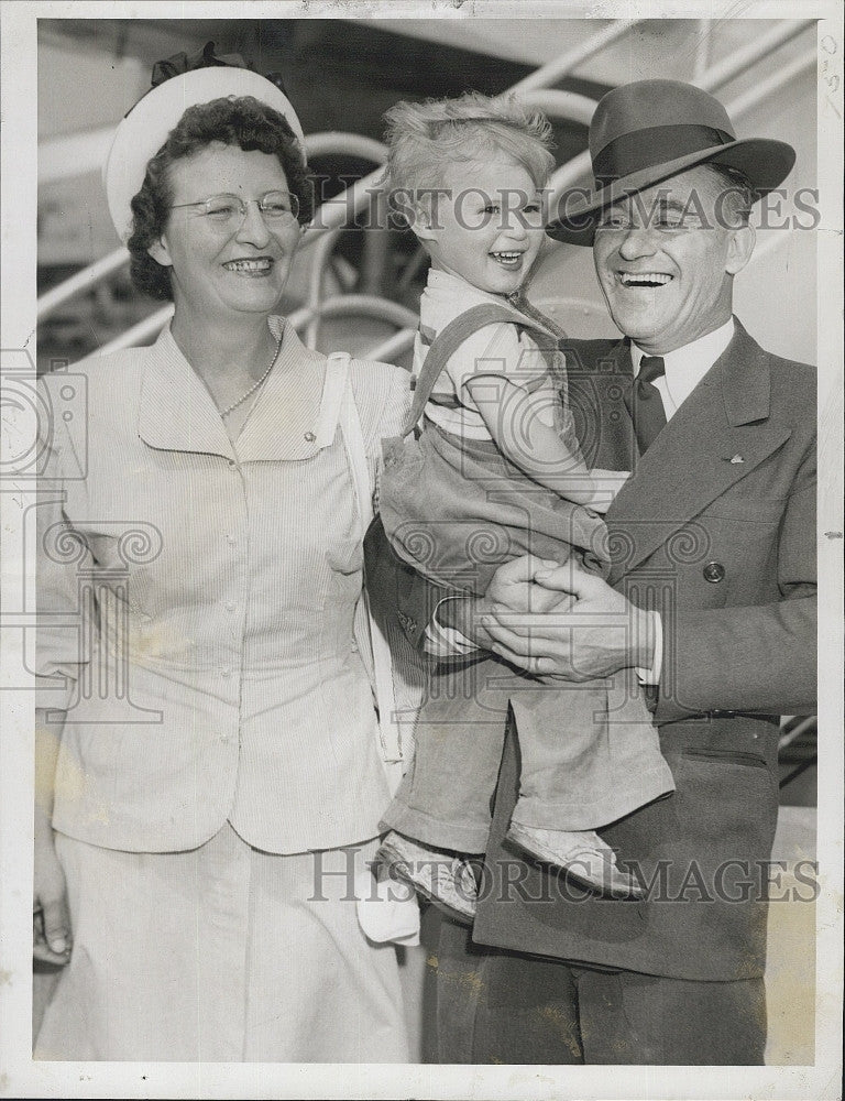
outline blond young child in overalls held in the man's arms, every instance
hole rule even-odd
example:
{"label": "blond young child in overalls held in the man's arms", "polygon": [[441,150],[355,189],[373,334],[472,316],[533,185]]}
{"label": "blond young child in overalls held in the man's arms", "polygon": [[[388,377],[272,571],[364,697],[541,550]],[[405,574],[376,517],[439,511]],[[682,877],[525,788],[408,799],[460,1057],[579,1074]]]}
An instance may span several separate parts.
{"label": "blond young child in overalls held in the man's arms", "polygon": [[[392,195],[431,262],[414,408],[405,438],[385,445],[387,536],[457,593],[485,592],[502,563],[528,553],[604,574],[599,511],[627,475],[585,467],[561,334],[516,306],[544,241],[550,127],[476,94],[398,103],[386,119]],[[432,675],[413,765],[382,822],[382,864],[473,914],[465,860],[486,843],[508,710],[522,757],[508,838],[592,889],[636,894],[595,832],[674,786],[636,677],[547,687],[480,652]]]}

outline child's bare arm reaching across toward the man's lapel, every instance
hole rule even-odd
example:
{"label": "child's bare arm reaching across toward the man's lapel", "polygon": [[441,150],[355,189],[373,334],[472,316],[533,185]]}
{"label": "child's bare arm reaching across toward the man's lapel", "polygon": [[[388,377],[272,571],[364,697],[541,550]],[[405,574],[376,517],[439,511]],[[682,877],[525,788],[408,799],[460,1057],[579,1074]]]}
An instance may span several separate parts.
{"label": "child's bare arm reaching across toward the man's lapel", "polygon": [[463,385],[496,446],[534,481],[575,504],[604,512],[627,479],[590,470],[555,426],[557,395],[549,385],[530,391],[505,374],[473,374]]}

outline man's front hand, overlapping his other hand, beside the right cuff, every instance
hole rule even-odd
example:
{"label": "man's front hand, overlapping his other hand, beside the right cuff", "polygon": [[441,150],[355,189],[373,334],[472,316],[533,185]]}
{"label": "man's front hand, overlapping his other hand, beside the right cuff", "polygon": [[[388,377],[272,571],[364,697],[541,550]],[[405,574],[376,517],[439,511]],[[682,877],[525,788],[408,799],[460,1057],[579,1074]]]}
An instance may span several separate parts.
{"label": "man's front hand, overlapping his other hand, beside the right cuff", "polygon": [[569,602],[541,613],[485,609],[481,629],[493,653],[535,676],[551,674],[573,682],[611,676],[629,666],[651,666],[651,615],[601,577],[588,574],[572,559],[553,570],[535,570],[533,580],[550,593],[564,593]]}

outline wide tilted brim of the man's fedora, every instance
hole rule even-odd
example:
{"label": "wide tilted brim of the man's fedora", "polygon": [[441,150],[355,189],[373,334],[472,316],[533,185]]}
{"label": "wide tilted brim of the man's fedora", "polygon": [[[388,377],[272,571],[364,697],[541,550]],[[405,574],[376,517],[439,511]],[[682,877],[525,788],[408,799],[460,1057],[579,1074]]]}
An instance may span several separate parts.
{"label": "wide tilted brim of the man's fedora", "polygon": [[[546,232],[553,240],[567,244],[591,246],[599,217],[608,206],[626,195],[635,195],[671,179],[688,168],[694,168],[699,164],[722,164],[737,168],[748,177],[756,198],[760,198],[787,178],[794,163],[794,149],[773,138],[743,138],[726,145],[712,145],[621,176],[589,196],[584,196],[583,192],[566,192],[558,203],[558,210],[564,212],[546,227]],[[568,196],[573,195],[574,201],[568,203]]]}

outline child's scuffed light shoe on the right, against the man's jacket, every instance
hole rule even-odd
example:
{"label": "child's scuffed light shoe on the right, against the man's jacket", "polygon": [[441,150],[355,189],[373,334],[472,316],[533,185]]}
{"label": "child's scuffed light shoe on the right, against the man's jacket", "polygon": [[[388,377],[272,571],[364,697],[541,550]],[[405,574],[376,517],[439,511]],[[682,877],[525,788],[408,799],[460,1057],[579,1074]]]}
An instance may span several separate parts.
{"label": "child's scuffed light shoe on the right, against the man's jacket", "polygon": [[595,830],[540,829],[511,822],[507,839],[528,855],[561,868],[584,886],[614,898],[641,898],[636,877],[616,864],[616,853]]}

